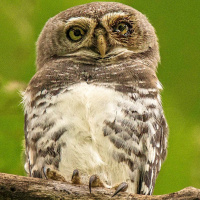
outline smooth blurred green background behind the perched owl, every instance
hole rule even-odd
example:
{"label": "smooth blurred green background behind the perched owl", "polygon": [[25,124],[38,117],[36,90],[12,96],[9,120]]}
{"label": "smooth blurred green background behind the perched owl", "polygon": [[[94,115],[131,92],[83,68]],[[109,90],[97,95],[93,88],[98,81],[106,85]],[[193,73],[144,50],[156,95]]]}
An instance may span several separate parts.
{"label": "smooth blurred green background behind the perched owl", "polygon": [[[35,42],[45,22],[90,0],[1,0],[0,172],[24,175],[19,90],[35,73]],[[200,0],[119,0],[144,13],[159,37],[168,157],[154,194],[200,187]]]}

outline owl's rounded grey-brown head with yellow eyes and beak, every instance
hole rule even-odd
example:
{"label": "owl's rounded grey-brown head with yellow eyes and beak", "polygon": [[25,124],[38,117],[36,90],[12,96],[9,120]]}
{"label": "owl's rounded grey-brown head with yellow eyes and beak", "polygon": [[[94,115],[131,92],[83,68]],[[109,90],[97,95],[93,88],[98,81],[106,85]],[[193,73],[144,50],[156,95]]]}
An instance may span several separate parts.
{"label": "owl's rounded grey-brown head with yellow eyes and beak", "polygon": [[58,59],[111,62],[138,56],[159,62],[157,36],[139,11],[116,2],[67,9],[49,19],[37,42],[37,68]]}

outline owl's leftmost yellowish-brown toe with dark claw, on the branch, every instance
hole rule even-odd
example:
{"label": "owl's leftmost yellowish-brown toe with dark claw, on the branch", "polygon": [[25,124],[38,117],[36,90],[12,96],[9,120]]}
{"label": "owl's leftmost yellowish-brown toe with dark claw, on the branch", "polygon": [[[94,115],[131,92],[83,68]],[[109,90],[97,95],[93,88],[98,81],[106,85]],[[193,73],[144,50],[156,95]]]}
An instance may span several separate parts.
{"label": "owl's leftmost yellowish-brown toe with dark claw, on the branch", "polygon": [[66,182],[66,179],[55,169],[43,167],[43,172],[46,179]]}

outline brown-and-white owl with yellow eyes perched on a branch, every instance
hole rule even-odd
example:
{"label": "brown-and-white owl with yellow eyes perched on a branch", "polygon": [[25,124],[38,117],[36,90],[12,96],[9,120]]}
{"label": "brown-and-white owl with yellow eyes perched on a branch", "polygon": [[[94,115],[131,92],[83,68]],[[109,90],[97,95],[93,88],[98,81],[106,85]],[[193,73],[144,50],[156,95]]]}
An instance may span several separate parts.
{"label": "brown-and-white owl with yellow eyes perched on a branch", "polygon": [[95,2],[50,18],[23,93],[29,176],[151,195],[168,136],[159,61],[155,30],[132,7]]}

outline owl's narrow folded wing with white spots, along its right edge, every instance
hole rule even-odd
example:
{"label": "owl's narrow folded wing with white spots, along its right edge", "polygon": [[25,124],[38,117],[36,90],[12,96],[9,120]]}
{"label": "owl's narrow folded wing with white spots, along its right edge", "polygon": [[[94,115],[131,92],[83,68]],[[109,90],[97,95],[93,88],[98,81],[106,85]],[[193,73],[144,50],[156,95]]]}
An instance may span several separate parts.
{"label": "owl's narrow folded wing with white spots, along its right edge", "polygon": [[147,148],[146,163],[140,173],[139,194],[151,195],[153,193],[161,164],[167,154],[168,127],[166,120],[162,112],[160,113],[160,118],[155,119],[153,123],[155,134],[149,137],[144,145]]}

